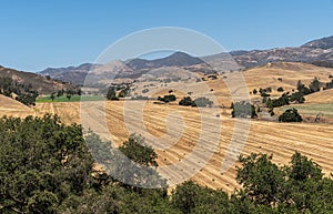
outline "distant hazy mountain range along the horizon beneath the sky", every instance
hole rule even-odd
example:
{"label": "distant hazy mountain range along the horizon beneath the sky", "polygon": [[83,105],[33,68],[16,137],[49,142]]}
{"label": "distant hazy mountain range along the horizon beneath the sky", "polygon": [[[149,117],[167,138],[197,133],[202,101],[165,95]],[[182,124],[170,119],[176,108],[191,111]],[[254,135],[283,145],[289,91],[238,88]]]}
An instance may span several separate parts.
{"label": "distant hazy mountain range along the horizon beneath the sky", "polygon": [[209,73],[214,71],[216,64],[222,65],[220,68],[223,68],[223,70],[234,70],[281,61],[332,64],[333,35],[313,40],[294,48],[252,51],[241,50],[202,58],[191,57],[183,52],[175,52],[167,58],[155,60],[132,59],[128,61],[113,61],[103,65],[84,63],[79,67],[48,68],[39,73],[73,84],[83,84],[89,71],[93,71],[98,75],[117,75],[114,77],[115,79],[137,79],[159,68],[182,68],[189,71]]}

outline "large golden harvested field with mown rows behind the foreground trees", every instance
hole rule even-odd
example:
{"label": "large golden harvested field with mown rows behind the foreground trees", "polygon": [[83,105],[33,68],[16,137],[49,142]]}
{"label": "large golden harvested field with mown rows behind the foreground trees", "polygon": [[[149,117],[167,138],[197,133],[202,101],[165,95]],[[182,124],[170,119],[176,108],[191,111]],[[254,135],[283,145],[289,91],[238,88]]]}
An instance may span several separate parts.
{"label": "large golden harvested field with mown rows behind the foreground trees", "polygon": [[[80,103],[39,103],[38,108],[41,112],[59,113],[67,123],[80,121]],[[102,102],[85,102],[82,108],[85,120],[91,120],[89,125],[97,133],[103,126],[103,122],[98,119],[104,116],[105,112],[111,139],[117,145],[125,141],[130,133],[144,135],[148,143],[155,147],[161,169],[173,169],[178,164],[182,166],[176,169],[179,171],[161,171],[161,174],[167,173],[171,180],[180,181],[191,175],[191,179],[202,185],[232,192],[239,187],[235,182],[236,164],[232,164],[226,172],[221,172],[221,169],[223,163],[233,163],[238,152],[273,154],[274,162],[283,165],[299,151],[317,162],[326,175],[333,172],[333,126],[329,124],[264,121],[251,121],[249,124],[248,120],[230,119],[224,114],[216,116],[214,109],[206,108],[200,113],[195,108],[159,105],[151,101],[107,102],[105,111]],[[204,135],[205,131],[211,131],[211,135]],[[201,134],[203,136],[199,143]],[[233,134],[235,143],[230,150]]]}

